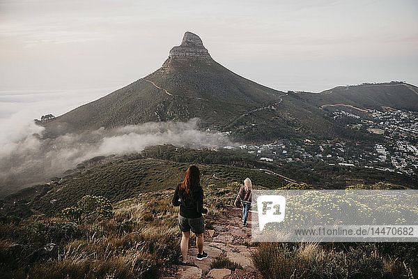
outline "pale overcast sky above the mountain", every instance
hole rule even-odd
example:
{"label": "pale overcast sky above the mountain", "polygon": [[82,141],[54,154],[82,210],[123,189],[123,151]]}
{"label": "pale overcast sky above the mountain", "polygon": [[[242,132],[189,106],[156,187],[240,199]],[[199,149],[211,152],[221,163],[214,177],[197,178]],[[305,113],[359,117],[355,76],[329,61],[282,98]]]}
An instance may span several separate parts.
{"label": "pale overcast sky above the mountain", "polygon": [[416,0],[0,0],[0,120],[59,115],[138,80],[185,31],[274,89],[418,84]]}

